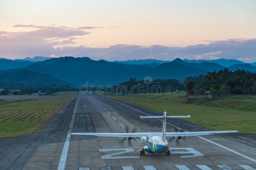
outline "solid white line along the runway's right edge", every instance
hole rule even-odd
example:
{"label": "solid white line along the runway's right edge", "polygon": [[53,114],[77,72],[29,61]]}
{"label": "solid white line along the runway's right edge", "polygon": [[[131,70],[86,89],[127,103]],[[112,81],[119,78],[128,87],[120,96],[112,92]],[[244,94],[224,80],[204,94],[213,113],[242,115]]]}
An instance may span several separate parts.
{"label": "solid white line along the runway's right edge", "polygon": [[[95,94],[93,94],[93,95],[95,95]],[[95,95],[95,96],[98,96],[98,95]],[[99,97],[101,97],[101,96],[99,96]],[[108,99],[108,98],[106,98],[106,97],[102,97],[102,98],[107,99],[107,100],[114,101],[114,102],[116,102],[116,103],[123,104],[123,105],[125,105],[125,106],[127,106],[127,107],[130,107],[130,108],[132,108],[132,109],[134,109],[134,110],[137,110],[137,111],[139,111],[139,112],[141,112],[141,113],[144,113],[145,115],[151,116],[151,115],[149,115],[149,114],[147,114],[147,113],[145,113],[145,112],[143,112],[143,111],[141,111],[141,110],[135,109],[135,108],[133,108],[133,107],[131,107],[131,106],[128,106],[128,105],[126,105],[126,104],[124,104],[124,103],[117,102],[117,101],[115,101],[115,100]],[[160,120],[160,119],[158,119],[158,120]],[[162,121],[162,120],[160,120],[160,121]],[[184,130],[184,129],[178,127],[178,126],[175,126],[175,125],[170,124],[170,123],[167,123],[167,122],[166,122],[166,124],[169,124],[169,125],[171,125],[171,126],[173,126],[173,127],[176,127],[177,129],[180,129],[180,130],[186,132],[186,130]],[[188,132],[188,131],[187,131],[187,132]],[[241,157],[244,157],[245,159],[251,160],[252,162],[256,162],[256,159],[253,159],[253,158],[251,158],[251,157],[249,157],[249,156],[246,156],[246,155],[244,155],[244,154],[242,154],[242,153],[240,153],[240,152],[237,152],[237,151],[235,151],[235,150],[233,150],[233,149],[230,149],[230,148],[228,148],[228,147],[226,147],[226,146],[220,145],[220,144],[218,144],[218,143],[216,143],[216,142],[213,142],[213,141],[211,141],[211,140],[209,140],[209,139],[206,139],[206,138],[203,138],[203,137],[201,137],[201,136],[198,136],[198,138],[203,139],[203,140],[205,140],[205,141],[207,141],[207,142],[210,142],[210,143],[212,143],[213,145],[219,146],[219,147],[221,147],[221,148],[223,148],[223,149],[226,149],[226,150],[228,150],[228,151],[230,151],[230,152],[233,152],[233,153],[235,153],[235,154],[237,154],[237,155],[239,155],[239,156],[241,156]]]}

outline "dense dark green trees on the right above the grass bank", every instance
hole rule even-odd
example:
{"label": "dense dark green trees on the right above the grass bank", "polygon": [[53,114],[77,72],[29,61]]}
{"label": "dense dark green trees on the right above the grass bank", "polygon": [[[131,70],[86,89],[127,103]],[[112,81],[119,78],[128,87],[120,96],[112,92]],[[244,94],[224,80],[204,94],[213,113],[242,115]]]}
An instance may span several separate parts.
{"label": "dense dark green trees on the right above the grass bank", "polygon": [[228,68],[208,72],[198,77],[187,77],[184,81],[188,94],[205,94],[210,91],[213,95],[256,94],[256,74],[237,69],[232,72]]}

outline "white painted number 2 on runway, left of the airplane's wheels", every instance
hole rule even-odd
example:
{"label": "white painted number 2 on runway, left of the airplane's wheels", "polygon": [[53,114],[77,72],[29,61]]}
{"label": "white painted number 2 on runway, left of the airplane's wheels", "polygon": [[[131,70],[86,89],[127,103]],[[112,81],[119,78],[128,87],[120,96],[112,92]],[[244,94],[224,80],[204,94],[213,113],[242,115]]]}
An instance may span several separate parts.
{"label": "white painted number 2 on runway, left of the airplane's wheels", "polygon": [[132,148],[99,149],[99,151],[100,152],[123,151],[123,152],[111,153],[108,155],[102,155],[101,159],[140,158],[139,156],[113,156],[113,155],[118,155],[118,154],[122,154],[122,153],[133,152],[134,150]]}

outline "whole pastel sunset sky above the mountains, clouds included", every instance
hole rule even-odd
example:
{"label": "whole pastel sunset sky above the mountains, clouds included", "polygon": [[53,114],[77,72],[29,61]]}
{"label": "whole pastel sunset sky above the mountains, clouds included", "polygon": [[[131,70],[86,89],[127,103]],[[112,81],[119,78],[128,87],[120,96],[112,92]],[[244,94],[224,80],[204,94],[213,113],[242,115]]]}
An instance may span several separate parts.
{"label": "whole pastel sunset sky above the mountains, clouds included", "polygon": [[254,0],[0,0],[0,58],[256,62]]}

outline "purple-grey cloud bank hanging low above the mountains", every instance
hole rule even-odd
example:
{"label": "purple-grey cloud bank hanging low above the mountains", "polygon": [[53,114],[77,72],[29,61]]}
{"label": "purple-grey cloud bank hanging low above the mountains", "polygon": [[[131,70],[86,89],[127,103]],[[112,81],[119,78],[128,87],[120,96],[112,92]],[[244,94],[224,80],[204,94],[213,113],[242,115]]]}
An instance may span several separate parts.
{"label": "purple-grey cloud bank hanging low above the mountains", "polygon": [[[213,60],[225,58],[246,62],[256,61],[256,39],[201,40],[210,43],[185,47],[114,44],[108,48],[91,48],[85,45],[78,47],[69,45],[76,43],[74,40],[79,38],[77,36],[84,36],[90,33],[84,29],[98,27],[71,28],[55,25],[14,25],[13,27],[33,27],[36,30],[28,32],[0,31],[0,57],[5,56],[15,59],[54,54],[56,56],[88,56],[92,59],[105,59],[109,61],[146,58],[173,60],[177,57],[181,59]],[[56,48],[56,46],[58,47]]]}

